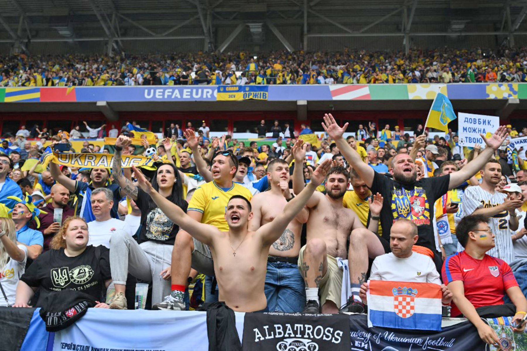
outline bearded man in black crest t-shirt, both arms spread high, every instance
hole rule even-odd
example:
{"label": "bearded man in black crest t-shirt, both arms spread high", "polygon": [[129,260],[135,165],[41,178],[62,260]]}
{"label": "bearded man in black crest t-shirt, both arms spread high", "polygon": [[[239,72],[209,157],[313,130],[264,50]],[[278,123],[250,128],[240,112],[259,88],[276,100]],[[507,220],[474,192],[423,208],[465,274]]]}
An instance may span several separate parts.
{"label": "bearded man in black crest t-shirt, both arms spread high", "polygon": [[[416,245],[422,246],[434,257],[434,263],[441,270],[442,259],[435,249],[435,238],[432,218],[434,216],[435,201],[446,194],[447,190],[463,184],[489,160],[497,148],[501,146],[508,134],[505,127],[497,128],[490,136],[482,135],[486,148],[481,154],[466,164],[460,171],[441,177],[428,177],[417,180],[415,163],[407,154],[398,154],[393,157],[390,173],[393,179],[380,175],[374,169],[362,162],[359,154],[351,148],[343,138],[348,124],[340,127],[331,114],[324,116],[323,127],[328,135],[333,138],[340,153],[364,180],[372,193],[380,193],[384,204],[380,212],[380,225],[383,236],[363,230],[352,233],[350,236],[350,280],[352,290],[360,287],[366,281],[368,270],[368,257],[375,258],[391,251],[389,237],[394,220],[405,218],[417,225],[418,238]],[[373,218],[373,219],[379,219]],[[365,249],[367,248],[367,249]],[[355,295],[354,295],[355,298]],[[347,312],[363,312],[364,305],[358,295],[353,302],[348,303]]]}

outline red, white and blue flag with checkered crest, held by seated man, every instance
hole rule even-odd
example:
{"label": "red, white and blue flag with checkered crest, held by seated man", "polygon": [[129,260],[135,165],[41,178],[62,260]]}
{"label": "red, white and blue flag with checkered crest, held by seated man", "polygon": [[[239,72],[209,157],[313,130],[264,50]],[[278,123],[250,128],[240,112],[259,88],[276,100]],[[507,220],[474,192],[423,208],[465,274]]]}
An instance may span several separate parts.
{"label": "red, white and blue flag with checkered crest, held by seated man", "polygon": [[441,330],[441,287],[369,280],[368,327]]}

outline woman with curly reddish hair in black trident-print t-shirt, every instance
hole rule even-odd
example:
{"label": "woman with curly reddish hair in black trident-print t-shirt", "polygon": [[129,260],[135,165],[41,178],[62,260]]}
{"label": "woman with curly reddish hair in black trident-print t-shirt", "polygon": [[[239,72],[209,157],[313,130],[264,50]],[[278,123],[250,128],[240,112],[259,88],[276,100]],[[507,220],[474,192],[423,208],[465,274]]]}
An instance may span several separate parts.
{"label": "woman with curly reddish hair in black trident-print t-shirt", "polygon": [[51,241],[52,249],[38,256],[20,278],[14,307],[30,307],[30,299],[40,288],[36,307],[41,307],[46,296],[54,292],[73,289],[91,295],[97,302],[95,307],[108,308],[98,300],[112,282],[109,250],[87,243],[86,221],[66,218]]}

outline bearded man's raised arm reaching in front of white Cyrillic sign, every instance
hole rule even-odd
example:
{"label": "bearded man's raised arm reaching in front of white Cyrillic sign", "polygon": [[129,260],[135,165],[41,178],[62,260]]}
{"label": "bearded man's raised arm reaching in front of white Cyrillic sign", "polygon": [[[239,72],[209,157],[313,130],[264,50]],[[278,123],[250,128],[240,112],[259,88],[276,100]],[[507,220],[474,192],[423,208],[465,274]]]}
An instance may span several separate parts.
{"label": "bearded man's raised arm reaching in front of white Cyrillic sign", "polygon": [[450,174],[450,183],[448,183],[448,190],[460,186],[466,180],[470,179],[474,174],[479,172],[481,168],[489,161],[494,155],[494,152],[503,144],[503,141],[509,133],[505,126],[499,126],[494,134],[487,138],[483,134],[480,134],[487,147],[481,152],[480,155],[475,157],[471,162],[467,163],[465,167],[459,171]]}

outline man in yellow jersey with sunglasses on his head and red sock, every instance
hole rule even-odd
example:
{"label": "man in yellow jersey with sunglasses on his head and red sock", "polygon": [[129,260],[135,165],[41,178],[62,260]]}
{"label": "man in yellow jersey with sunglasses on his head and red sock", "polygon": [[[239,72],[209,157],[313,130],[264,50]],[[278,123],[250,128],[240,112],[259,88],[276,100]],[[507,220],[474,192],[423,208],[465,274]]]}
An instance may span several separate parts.
{"label": "man in yellow jersey with sunglasses on his head and red sock", "polygon": [[[187,134],[187,141],[191,148],[197,149],[197,141],[193,133]],[[194,143],[196,142],[196,143]],[[194,151],[194,150],[193,150]],[[197,153],[193,152],[197,157]],[[199,164],[196,158],[196,164]],[[198,166],[198,168],[200,168]],[[229,199],[239,195],[252,198],[251,192],[240,184],[232,182],[238,171],[238,159],[231,151],[220,151],[212,157],[212,182],[201,185],[196,189],[190,200],[187,213],[199,223],[210,224],[221,232],[228,232],[229,226],[225,219],[225,210]],[[172,249],[172,293],[161,303],[155,304],[154,309],[184,310],[183,302],[185,288],[188,285],[190,268],[200,273],[214,276],[214,263],[209,246],[193,239],[189,233],[180,230],[175,237]]]}

